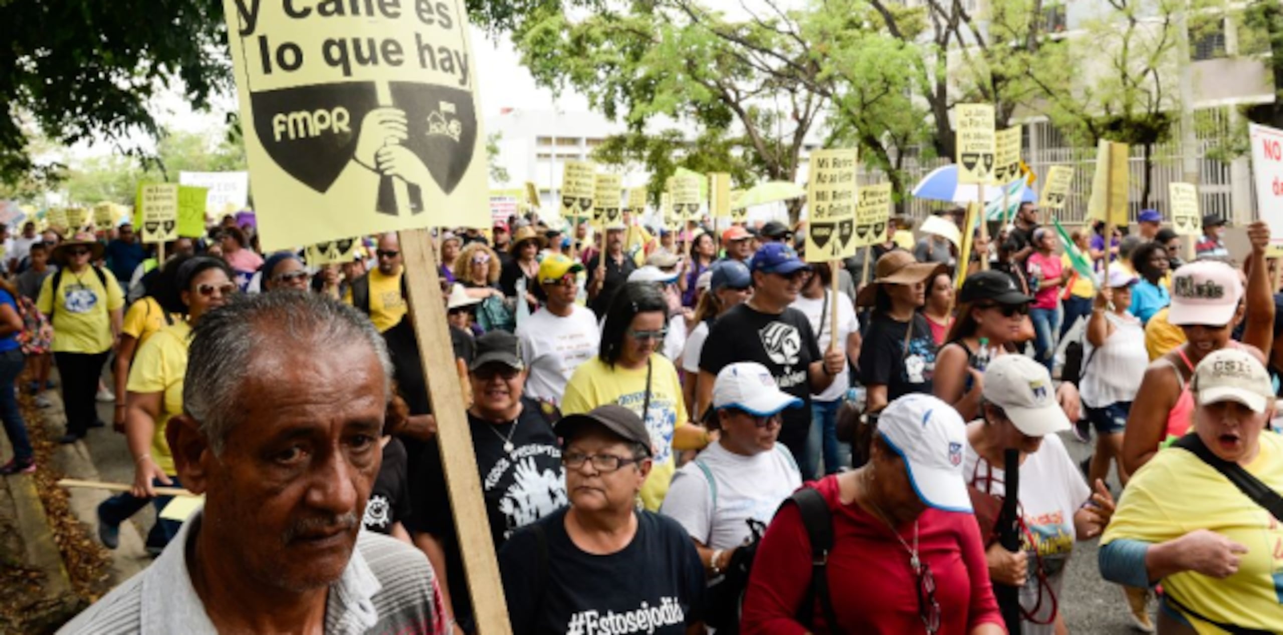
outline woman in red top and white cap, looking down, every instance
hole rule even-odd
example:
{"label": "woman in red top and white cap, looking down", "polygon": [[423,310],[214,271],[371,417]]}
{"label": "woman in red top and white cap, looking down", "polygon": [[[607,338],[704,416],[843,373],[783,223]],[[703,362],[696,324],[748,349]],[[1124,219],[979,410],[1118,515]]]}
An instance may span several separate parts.
{"label": "woman in red top and white cap, looking down", "polygon": [[887,405],[869,463],[811,485],[822,500],[808,507],[813,529],[833,536],[822,566],[795,503],[771,521],[740,632],[1006,632],[962,482],[965,445],[965,423],[944,402],[910,394]]}

